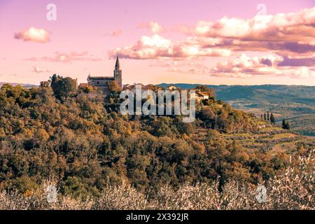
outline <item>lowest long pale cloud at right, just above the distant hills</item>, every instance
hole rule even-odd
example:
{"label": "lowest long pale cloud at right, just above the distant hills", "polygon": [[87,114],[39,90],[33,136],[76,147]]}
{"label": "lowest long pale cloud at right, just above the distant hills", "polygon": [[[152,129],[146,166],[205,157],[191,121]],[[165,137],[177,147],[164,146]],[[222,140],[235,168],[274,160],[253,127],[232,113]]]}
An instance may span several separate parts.
{"label": "lowest long pale cloud at right, just above the distant hills", "polygon": [[169,61],[158,60],[151,66],[165,67],[169,72],[208,75],[214,77],[251,78],[255,76],[286,76],[290,78],[315,77],[315,66],[283,66],[286,58],[278,55],[265,55],[262,57],[248,57],[245,54],[223,62],[213,67],[205,66],[201,61],[184,60]]}

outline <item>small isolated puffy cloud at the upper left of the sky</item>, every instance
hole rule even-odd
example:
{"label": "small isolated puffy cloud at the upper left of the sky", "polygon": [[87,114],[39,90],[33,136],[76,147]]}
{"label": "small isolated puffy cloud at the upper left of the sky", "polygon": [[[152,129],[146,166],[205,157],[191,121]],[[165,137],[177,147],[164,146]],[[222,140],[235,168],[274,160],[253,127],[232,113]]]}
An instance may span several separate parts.
{"label": "small isolated puffy cloud at the upper left of the sky", "polygon": [[25,31],[14,34],[14,38],[22,41],[32,41],[37,43],[46,43],[50,41],[50,33],[45,29],[36,29],[29,27]]}

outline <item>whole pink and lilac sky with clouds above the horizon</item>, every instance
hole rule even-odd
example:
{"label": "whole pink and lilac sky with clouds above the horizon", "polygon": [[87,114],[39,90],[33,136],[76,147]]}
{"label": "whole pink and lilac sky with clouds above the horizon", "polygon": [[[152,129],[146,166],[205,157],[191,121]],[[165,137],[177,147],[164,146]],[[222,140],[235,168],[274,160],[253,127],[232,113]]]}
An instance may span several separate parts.
{"label": "whole pink and lilac sky with clouds above the horizon", "polygon": [[0,82],[315,85],[315,0],[0,0]]}

